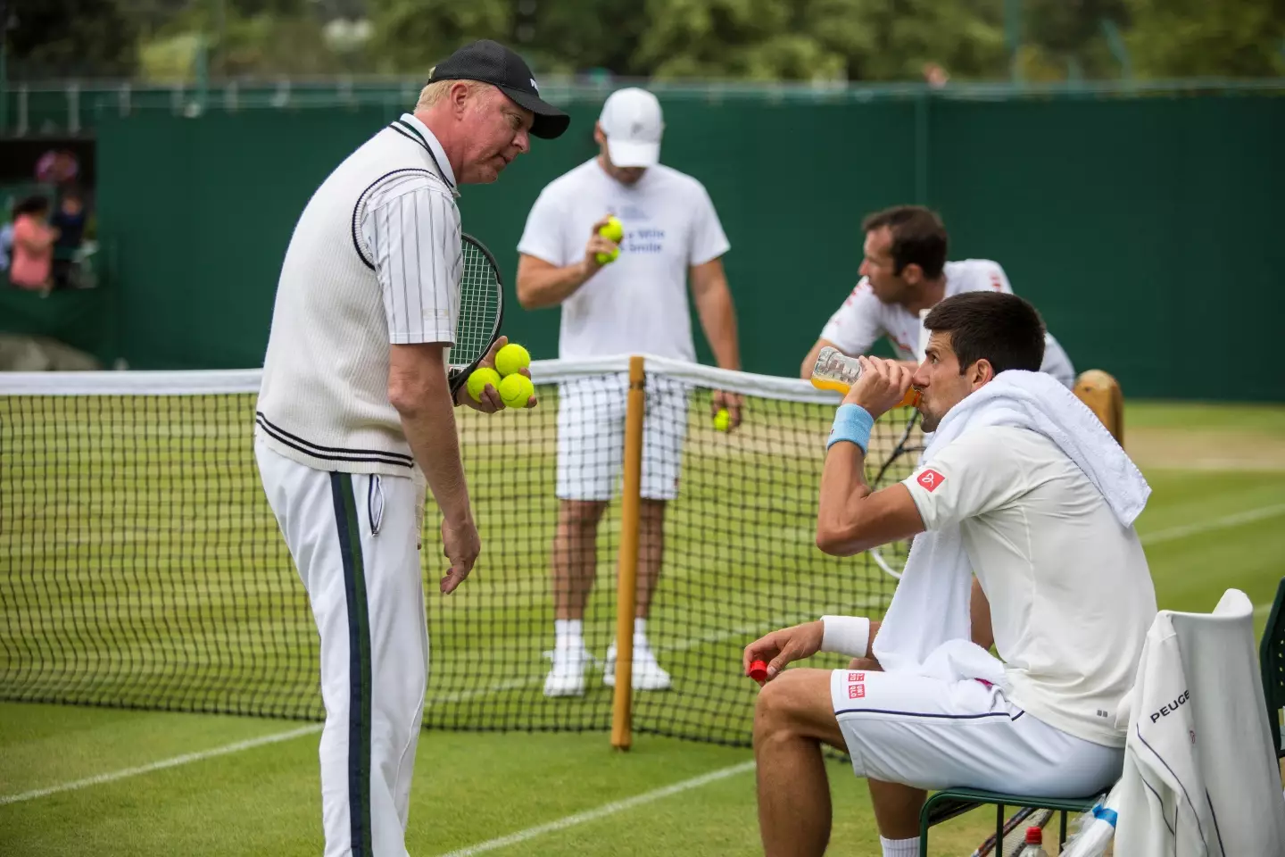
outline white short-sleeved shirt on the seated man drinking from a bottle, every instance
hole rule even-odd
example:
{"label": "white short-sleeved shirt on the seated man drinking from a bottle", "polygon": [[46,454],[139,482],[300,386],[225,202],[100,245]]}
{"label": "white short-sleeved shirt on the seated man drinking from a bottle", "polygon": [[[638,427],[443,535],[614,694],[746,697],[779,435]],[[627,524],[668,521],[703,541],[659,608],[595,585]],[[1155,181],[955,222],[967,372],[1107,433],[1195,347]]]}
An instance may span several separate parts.
{"label": "white short-sleeved shirt on the seated man drinking from a bottle", "polygon": [[903,484],[926,529],[960,526],[1009,698],[1064,732],[1123,747],[1115,714],[1155,618],[1137,532],[1028,429],[968,430]]}

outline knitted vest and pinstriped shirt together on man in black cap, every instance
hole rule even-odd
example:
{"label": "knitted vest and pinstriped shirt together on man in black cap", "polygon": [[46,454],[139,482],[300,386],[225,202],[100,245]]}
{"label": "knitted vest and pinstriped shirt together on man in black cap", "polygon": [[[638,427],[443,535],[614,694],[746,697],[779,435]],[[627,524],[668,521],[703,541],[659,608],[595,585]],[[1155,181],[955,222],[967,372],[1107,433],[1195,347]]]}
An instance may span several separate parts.
{"label": "knitted vest and pinstriped shirt together on man in black cap", "polygon": [[454,342],[461,266],[451,164],[403,114],[335,167],[299,216],[256,437],[323,470],[418,475],[388,401],[389,346]]}

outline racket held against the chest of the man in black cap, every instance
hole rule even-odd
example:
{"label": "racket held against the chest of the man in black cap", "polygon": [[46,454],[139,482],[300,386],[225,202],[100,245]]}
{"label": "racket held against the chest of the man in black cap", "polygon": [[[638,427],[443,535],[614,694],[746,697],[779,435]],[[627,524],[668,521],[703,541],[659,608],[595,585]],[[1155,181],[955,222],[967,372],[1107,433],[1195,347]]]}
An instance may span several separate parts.
{"label": "racket held against the chest of the man in black cap", "polygon": [[504,321],[504,284],[495,256],[472,235],[460,235],[460,311],[447,361],[452,400],[500,338]]}

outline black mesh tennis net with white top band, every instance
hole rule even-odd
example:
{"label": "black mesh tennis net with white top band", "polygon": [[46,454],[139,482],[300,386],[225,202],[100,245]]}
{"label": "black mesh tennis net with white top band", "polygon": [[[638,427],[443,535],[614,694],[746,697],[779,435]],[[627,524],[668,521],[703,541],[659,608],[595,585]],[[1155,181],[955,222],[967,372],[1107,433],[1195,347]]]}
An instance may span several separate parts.
{"label": "black mesh tennis net with white top band", "polygon": [[[459,409],[482,556],[450,597],[439,517],[424,519],[432,641],[424,723],[448,730],[607,730],[600,668],[547,698],[551,565],[563,492],[612,492],[585,568],[583,630],[603,659],[616,628],[616,475],[628,360],[537,361],[540,407]],[[671,675],[635,691],[636,731],[748,744],[756,685],[740,650],[822,613],[880,614],[902,547],[852,559],[813,543],[837,397],[806,382],[646,360],[644,493],[664,504],[648,637]],[[321,718],[307,596],[263,496],[252,429],[260,373],[0,375],[0,698]],[[743,424],[711,419],[714,391]],[[592,419],[590,419],[592,418]],[[870,477],[903,478],[910,411],[879,421]],[[646,505],[646,504],[644,504]],[[565,543],[565,542],[559,542]],[[649,542],[640,542],[640,568]],[[834,666],[837,659],[829,659]]]}

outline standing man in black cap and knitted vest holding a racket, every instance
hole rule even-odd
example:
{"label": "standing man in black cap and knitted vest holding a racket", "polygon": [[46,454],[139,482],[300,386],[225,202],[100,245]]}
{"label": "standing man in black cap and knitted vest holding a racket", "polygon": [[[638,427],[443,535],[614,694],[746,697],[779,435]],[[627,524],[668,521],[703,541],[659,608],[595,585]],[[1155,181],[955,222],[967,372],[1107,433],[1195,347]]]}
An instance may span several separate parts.
{"label": "standing man in black cap and knitted vest holding a racket", "polygon": [[442,594],[481,551],[452,405],[502,406],[463,380],[505,339],[492,344],[499,279],[461,236],[457,185],[495,181],[531,136],[568,122],[517,54],[461,48],[412,113],[326,177],[285,253],[254,452],[321,637],[328,857],[406,854],[428,680],[425,481],[443,517]]}

